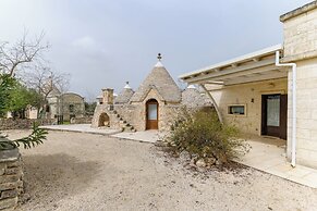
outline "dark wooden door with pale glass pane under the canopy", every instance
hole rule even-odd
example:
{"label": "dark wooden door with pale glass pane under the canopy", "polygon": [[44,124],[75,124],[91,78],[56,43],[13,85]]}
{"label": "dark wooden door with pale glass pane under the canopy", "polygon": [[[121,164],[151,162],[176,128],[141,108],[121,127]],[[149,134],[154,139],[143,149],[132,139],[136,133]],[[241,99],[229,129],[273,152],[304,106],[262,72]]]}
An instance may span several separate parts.
{"label": "dark wooden door with pale glass pane under the canopy", "polygon": [[288,95],[264,95],[261,135],[286,139]]}

